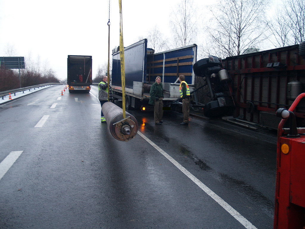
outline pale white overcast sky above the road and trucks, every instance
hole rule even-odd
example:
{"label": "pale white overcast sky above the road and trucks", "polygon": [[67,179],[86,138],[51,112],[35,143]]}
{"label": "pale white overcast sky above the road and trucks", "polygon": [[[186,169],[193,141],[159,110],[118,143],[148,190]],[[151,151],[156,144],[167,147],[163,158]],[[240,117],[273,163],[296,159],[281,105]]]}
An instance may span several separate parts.
{"label": "pale white overcast sky above the road and trucks", "polygon": [[[118,2],[110,1],[110,50],[119,45]],[[179,2],[122,0],[124,46],[147,38],[155,25],[170,37],[170,13]],[[193,2],[206,18],[204,5],[216,0]],[[13,48],[13,56],[30,57],[33,63],[39,59],[41,68],[52,68],[59,79],[66,79],[67,56],[88,55],[94,78],[98,66],[107,63],[108,15],[108,0],[0,0],[0,56]]]}

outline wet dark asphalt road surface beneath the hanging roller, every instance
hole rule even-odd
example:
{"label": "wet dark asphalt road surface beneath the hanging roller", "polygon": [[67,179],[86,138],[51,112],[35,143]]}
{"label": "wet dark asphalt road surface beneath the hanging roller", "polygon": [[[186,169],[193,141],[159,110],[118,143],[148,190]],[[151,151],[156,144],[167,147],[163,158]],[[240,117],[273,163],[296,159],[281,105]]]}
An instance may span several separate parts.
{"label": "wet dark asphalt road surface beneath the hanging roller", "polygon": [[[96,87],[62,88],[0,105],[0,162],[23,151],[0,180],[0,228],[247,228],[139,134],[115,140],[100,123]],[[273,138],[194,118],[180,126],[174,112],[155,126],[151,112],[129,112],[252,228],[273,227]]]}

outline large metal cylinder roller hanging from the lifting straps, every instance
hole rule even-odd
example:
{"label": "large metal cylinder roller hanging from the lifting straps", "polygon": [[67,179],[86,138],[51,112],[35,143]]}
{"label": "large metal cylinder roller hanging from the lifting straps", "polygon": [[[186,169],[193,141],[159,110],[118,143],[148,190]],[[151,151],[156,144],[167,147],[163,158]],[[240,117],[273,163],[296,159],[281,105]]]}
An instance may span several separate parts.
{"label": "large metal cylinder roller hanging from the lifting straps", "polygon": [[135,137],[138,132],[138,121],[131,114],[126,112],[126,118],[123,118],[123,109],[117,105],[106,102],[102,106],[107,127],[111,135],[119,141],[129,141]]}

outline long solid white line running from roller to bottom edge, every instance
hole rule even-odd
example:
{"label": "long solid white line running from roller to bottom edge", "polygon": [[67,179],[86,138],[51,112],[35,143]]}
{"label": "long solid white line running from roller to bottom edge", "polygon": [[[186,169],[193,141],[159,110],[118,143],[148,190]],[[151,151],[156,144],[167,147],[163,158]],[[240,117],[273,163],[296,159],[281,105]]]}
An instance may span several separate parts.
{"label": "long solid white line running from roller to bottom edge", "polygon": [[138,134],[144,138],[149,144],[151,144],[157,151],[163,154],[171,163],[173,163],[182,173],[184,173],[189,179],[191,179],[195,184],[197,184],[206,194],[213,198],[221,207],[223,207],[228,213],[231,214],[239,223],[241,223],[247,229],[257,229],[253,224],[251,224],[244,216],[242,216],[238,211],[232,208],[227,202],[220,198],[216,193],[214,193],[209,187],[198,180],[192,173],[188,172],[182,165],[180,165],[174,158],[168,155],[160,147],[149,140],[144,134],[138,131]]}

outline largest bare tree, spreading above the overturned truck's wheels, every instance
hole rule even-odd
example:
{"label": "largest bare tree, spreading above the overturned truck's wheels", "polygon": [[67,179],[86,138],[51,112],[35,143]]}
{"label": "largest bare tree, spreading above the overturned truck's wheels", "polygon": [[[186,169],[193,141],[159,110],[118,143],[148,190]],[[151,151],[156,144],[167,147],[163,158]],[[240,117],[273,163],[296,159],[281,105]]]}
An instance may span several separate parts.
{"label": "largest bare tree, spreading above the overturned truck's wheels", "polygon": [[264,9],[268,0],[221,0],[210,7],[213,17],[206,27],[220,57],[240,55],[266,39]]}

